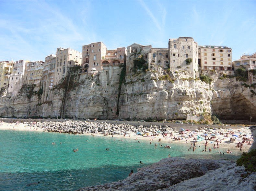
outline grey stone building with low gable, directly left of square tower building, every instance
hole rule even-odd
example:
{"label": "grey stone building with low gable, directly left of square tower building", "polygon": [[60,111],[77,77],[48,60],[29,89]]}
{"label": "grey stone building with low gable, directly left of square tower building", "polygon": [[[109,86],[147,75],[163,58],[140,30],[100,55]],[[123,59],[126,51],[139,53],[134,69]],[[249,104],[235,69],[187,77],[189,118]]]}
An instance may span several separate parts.
{"label": "grey stone building with low gable, directly left of square tower building", "polygon": [[134,68],[134,59],[142,55],[145,64],[148,64],[148,67],[154,65],[159,65],[164,68],[169,68],[169,50],[168,48],[152,48],[151,45],[139,45],[132,44],[127,46],[127,56],[126,56],[126,72],[128,73]]}

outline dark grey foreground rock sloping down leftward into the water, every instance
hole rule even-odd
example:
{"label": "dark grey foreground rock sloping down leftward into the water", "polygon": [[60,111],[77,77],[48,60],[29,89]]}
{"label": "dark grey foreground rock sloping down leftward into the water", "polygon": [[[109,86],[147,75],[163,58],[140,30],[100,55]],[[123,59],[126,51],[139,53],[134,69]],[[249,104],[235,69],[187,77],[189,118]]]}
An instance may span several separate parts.
{"label": "dark grey foreground rock sloping down leftward into the water", "polygon": [[137,173],[122,181],[80,188],[78,191],[153,191],[203,176],[209,170],[215,170],[230,163],[227,160],[165,158],[139,169]]}

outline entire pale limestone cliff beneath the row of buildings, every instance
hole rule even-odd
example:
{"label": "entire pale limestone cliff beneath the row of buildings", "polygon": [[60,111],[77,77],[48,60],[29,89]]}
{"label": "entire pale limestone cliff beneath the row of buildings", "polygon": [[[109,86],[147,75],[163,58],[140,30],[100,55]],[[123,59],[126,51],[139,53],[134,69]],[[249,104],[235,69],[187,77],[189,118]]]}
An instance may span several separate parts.
{"label": "entire pale limestone cliff beneath the row of buildings", "polygon": [[[97,119],[256,119],[255,88],[234,78],[207,84],[186,71],[154,66],[125,75],[125,66],[105,66],[97,74],[79,74],[79,68],[53,89],[23,86],[16,96],[3,91],[0,116]],[[254,112],[253,112],[254,111]]]}

